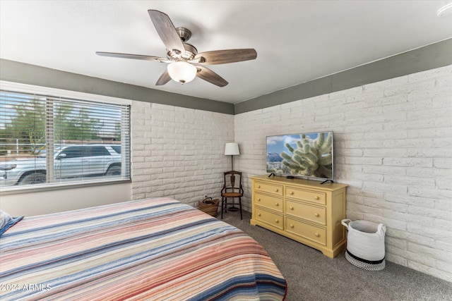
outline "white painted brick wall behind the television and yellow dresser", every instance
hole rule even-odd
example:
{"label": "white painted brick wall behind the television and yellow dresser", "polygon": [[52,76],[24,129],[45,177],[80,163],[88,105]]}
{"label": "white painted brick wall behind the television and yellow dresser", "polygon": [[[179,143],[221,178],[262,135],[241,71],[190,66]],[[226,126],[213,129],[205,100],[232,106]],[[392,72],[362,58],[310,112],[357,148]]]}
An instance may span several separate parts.
{"label": "white painted brick wall behind the television and yellow dresser", "polygon": [[266,172],[266,136],[332,130],[347,218],[388,228],[386,259],[452,281],[452,66],[234,116],[235,161]]}

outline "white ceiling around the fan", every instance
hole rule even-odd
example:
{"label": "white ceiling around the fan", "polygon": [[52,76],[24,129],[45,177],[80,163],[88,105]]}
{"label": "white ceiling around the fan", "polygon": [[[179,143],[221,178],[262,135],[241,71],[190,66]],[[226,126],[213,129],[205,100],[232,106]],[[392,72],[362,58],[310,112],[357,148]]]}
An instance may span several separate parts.
{"label": "white ceiling around the fan", "polygon": [[[221,102],[237,103],[452,37],[447,1],[6,1],[0,58]],[[155,82],[166,64],[95,51],[165,57],[148,9],[193,32],[198,52],[254,48],[254,61],[210,66],[229,82]]]}

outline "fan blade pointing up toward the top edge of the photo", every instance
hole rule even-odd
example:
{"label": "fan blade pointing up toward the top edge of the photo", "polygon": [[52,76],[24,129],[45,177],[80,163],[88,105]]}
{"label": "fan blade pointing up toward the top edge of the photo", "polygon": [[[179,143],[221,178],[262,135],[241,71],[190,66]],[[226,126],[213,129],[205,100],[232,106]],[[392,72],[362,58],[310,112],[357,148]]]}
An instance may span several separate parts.
{"label": "fan blade pointing up toward the top edge of the photo", "polygon": [[185,47],[182,43],[182,39],[176,31],[176,28],[172,24],[166,13],[161,11],[155,11],[153,9],[148,10],[150,20],[153,21],[155,30],[157,30],[160,39],[167,47],[168,51],[177,50],[181,54],[185,54]]}

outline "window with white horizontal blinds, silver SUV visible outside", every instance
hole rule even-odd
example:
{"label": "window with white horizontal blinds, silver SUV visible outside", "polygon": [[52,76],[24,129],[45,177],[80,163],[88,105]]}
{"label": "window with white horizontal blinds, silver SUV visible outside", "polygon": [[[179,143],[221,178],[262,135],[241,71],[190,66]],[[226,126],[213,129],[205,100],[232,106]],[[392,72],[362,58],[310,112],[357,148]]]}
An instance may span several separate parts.
{"label": "window with white horizontal blinds, silver SUV visible outside", "polygon": [[129,105],[0,90],[1,191],[129,179]]}

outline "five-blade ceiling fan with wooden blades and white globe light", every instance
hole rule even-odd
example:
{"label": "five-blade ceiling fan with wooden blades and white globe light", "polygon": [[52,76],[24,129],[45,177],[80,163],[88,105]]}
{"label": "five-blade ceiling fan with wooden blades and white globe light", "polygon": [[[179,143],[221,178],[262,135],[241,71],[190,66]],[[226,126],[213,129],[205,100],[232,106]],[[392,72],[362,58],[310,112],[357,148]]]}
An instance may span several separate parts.
{"label": "five-blade ceiling fan with wooden blades and white globe light", "polygon": [[157,80],[155,85],[165,85],[169,80],[184,84],[191,82],[196,76],[202,80],[225,87],[227,81],[204,65],[219,65],[222,63],[235,63],[256,59],[254,49],[227,49],[206,51],[198,54],[198,50],[186,43],[191,37],[191,31],[184,27],[175,28],[167,14],[150,9],[150,20],[153,21],[160,39],[167,49],[167,57],[144,56],[140,54],[119,54],[114,52],[97,51],[100,56],[112,56],[122,59],[139,59],[144,61],[157,61],[168,63],[167,69]]}

